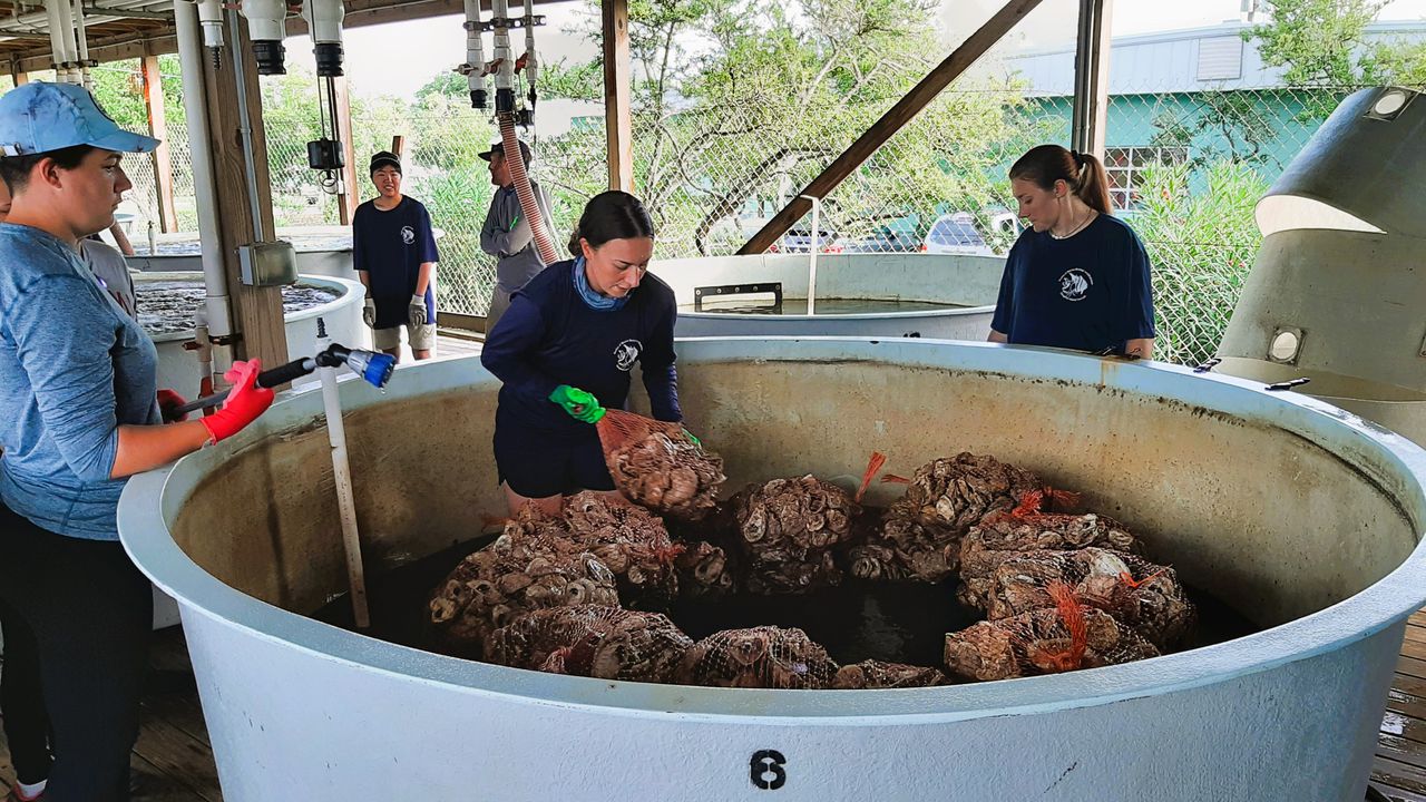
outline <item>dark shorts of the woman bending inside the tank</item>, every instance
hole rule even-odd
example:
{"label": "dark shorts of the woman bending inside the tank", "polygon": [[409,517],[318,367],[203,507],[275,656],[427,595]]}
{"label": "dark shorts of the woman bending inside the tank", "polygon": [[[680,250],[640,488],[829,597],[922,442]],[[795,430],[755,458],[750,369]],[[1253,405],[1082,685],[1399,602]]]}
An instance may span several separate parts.
{"label": "dark shorts of the woman bending inside the tank", "polygon": [[496,421],[495,465],[525,498],[615,489],[595,427],[562,432]]}

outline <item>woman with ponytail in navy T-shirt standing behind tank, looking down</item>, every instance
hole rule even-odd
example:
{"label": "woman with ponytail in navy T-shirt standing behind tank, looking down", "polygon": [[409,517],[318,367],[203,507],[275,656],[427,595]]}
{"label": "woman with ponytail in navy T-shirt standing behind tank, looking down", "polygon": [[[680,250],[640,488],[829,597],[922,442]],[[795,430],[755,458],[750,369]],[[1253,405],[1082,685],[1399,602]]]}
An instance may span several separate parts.
{"label": "woman with ponytail in navy T-shirt standing behind tank, looking down", "polygon": [[1010,187],[1030,228],[1005,257],[990,341],[1152,357],[1148,253],[1109,213],[1099,160],[1042,144]]}

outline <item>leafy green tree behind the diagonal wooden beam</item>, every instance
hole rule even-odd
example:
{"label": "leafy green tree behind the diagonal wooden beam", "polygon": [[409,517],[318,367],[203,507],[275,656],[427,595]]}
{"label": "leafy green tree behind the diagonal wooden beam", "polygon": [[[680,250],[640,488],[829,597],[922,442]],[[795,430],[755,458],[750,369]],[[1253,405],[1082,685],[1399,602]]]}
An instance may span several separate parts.
{"label": "leafy green tree behind the diagonal wooden beam", "polygon": [[[660,241],[727,250],[740,213],[786,203],[940,61],[934,10],[930,0],[630,3],[636,184]],[[1000,91],[938,98],[901,140],[934,147],[881,148],[827,198],[824,227],[861,234],[938,204],[984,207],[984,173],[1014,137],[1007,103],[1018,94],[977,88]],[[586,136],[580,157],[602,131]],[[600,186],[588,177],[585,191]]]}

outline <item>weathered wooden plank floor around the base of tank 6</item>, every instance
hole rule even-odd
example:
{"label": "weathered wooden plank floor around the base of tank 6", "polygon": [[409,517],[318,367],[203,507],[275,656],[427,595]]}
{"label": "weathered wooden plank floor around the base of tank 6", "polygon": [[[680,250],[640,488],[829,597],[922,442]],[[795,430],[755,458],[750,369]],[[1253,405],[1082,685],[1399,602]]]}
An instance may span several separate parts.
{"label": "weathered wooden plank floor around the base of tank 6", "polygon": [[[134,802],[221,802],[198,691],[178,626],[155,634],[154,672],[143,701]],[[0,732],[0,795],[14,783]],[[1393,802],[1426,802],[1426,611],[1412,616],[1382,716],[1372,788]]]}

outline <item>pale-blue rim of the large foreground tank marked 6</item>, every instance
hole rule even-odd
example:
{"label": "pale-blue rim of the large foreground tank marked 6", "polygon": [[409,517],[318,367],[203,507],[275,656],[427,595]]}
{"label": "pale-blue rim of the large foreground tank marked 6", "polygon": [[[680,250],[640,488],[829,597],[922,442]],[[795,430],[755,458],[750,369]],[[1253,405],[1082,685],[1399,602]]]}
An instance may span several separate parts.
{"label": "pale-blue rim of the large foreground tank marked 6", "polygon": [[[803,342],[796,358],[773,357],[764,361],[891,357],[898,364],[1144,392],[1248,420],[1268,420],[1312,442],[1332,447],[1335,454],[1356,454],[1399,468],[1410,481],[1405,488],[1409,497],[1400,502],[1406,505],[1402,512],[1417,531],[1417,545],[1390,574],[1360,592],[1315,614],[1224,644],[1072,674],[900,691],[749,691],[558,676],[424,652],[329,626],[220,582],[177,547],[157,505],[144,504],[145,498],[163,498],[164,507],[177,507],[181,497],[193,489],[198,481],[195,472],[173,475],[174,465],[130,479],[118,511],[124,548],[140,569],[180,601],[185,615],[201,615],[227,628],[242,629],[250,636],[398,675],[408,682],[442,685],[476,696],[515,698],[523,704],[588,708],[605,715],[797,726],[914,725],[1028,715],[1214,685],[1342,649],[1405,621],[1426,601],[1426,545],[1420,537],[1420,522],[1426,519],[1422,488],[1426,451],[1322,401],[1293,392],[1266,392],[1261,382],[1233,377],[1195,375],[1191,368],[1179,365],[1107,361],[1050,348],[868,337],[717,337],[680,342],[687,348],[682,351],[684,357],[700,361],[757,360],[753,354],[766,350],[770,342]],[[461,361],[468,361],[471,371],[479,375],[478,381],[495,381],[488,374],[481,375],[478,357],[399,370],[422,371],[445,365],[443,371],[425,371],[432,374],[432,381],[425,382],[421,392],[432,392],[471,384],[469,372],[451,370],[451,362]],[[376,391],[352,382],[344,401],[351,410],[381,400]],[[315,397],[304,401],[301,394],[287,394],[255,427],[187,460],[195,461],[195,467],[221,462],[247,444],[307,421],[318,411]]]}

